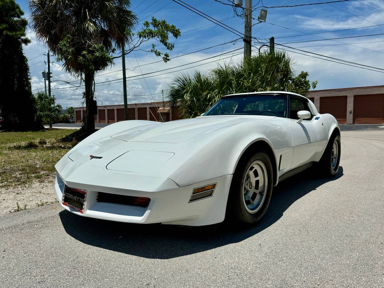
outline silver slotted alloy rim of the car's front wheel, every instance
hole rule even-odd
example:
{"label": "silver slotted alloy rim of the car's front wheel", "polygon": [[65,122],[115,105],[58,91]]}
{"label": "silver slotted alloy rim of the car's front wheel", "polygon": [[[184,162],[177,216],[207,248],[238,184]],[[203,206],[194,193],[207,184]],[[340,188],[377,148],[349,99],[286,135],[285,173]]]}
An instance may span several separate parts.
{"label": "silver slotted alloy rim of the car's front wheel", "polygon": [[268,186],[268,174],[262,161],[256,160],[247,169],[243,182],[243,203],[249,213],[262,207]]}

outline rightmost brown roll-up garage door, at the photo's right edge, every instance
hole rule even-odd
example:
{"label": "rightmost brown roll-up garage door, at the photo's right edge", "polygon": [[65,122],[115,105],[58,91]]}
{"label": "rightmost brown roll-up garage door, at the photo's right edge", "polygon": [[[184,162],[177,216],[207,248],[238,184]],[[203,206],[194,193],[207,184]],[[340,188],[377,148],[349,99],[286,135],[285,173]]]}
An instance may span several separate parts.
{"label": "rightmost brown roll-up garage door, at the photo's right edge", "polygon": [[355,124],[384,123],[384,94],[354,95],[353,122]]}

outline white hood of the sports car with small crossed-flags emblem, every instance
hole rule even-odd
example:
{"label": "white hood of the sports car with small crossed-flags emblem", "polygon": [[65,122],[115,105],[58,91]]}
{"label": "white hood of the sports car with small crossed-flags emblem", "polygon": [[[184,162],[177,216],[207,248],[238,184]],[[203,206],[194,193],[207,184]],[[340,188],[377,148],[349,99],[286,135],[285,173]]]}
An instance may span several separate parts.
{"label": "white hood of the sports car with small crossed-flags emblem", "polygon": [[[65,170],[68,175],[76,173],[76,170],[83,171],[84,166],[96,166],[106,171],[168,178],[227,129],[247,121],[260,121],[262,124],[273,118],[231,115],[203,116],[164,123],[137,121],[142,125],[126,130],[126,126],[120,124],[120,132],[116,131],[117,125],[113,124],[116,125],[115,131],[113,125],[101,129],[106,129],[104,134],[111,129],[109,136],[92,139],[92,142],[88,141],[85,145],[79,143],[79,146],[66,154],[68,160],[65,163],[59,161],[55,167],[58,172]],[[91,155],[96,158],[91,158]]]}

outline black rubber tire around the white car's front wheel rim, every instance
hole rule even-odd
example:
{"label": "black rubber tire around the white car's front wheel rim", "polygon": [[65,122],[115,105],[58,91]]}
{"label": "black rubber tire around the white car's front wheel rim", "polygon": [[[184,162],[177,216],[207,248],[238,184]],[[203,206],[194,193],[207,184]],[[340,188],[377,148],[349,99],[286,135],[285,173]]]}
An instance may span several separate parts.
{"label": "black rubber tire around the white car's front wheel rim", "polygon": [[[250,171],[248,168],[255,161],[261,161],[265,166],[267,180],[266,189],[265,189],[265,198],[263,202],[260,202],[256,212],[250,213],[246,208],[246,201],[244,199],[244,181]],[[258,185],[258,184],[257,184]],[[232,206],[232,212],[235,218],[244,223],[256,223],[258,222],[265,214],[268,209],[273,187],[273,171],[271,160],[266,154],[265,151],[258,151],[253,156],[248,159],[240,160],[233,174],[233,179],[231,183],[230,197],[228,198],[228,208]],[[260,196],[261,197],[261,196]]]}

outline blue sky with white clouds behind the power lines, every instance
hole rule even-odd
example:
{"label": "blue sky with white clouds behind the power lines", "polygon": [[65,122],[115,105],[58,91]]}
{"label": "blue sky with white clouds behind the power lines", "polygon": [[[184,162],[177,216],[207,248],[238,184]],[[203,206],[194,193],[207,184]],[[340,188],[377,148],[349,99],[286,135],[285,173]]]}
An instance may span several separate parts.
{"label": "blue sky with white clouds behind the power lines", "polygon": [[[377,0],[370,0],[370,2],[383,6],[382,1]],[[356,1],[350,1],[346,2],[348,4],[338,5],[337,3],[334,4],[337,7],[341,7],[343,10],[346,10],[350,13],[353,13],[355,15],[359,15],[362,18],[365,18],[369,21],[382,24],[383,17],[382,12],[379,12],[377,10],[374,10],[370,7],[367,7],[366,5],[362,5]],[[371,5],[368,3],[368,5]],[[221,5],[223,6],[223,5]],[[221,7],[218,6],[218,7]],[[348,28],[356,28],[359,26],[369,26],[374,25],[373,23],[370,23],[366,20],[363,20],[358,17],[354,17],[353,15],[350,15],[348,13],[342,12],[336,8],[329,7],[328,5],[315,5],[315,6],[324,6],[320,10],[317,11],[324,11],[324,13],[314,13],[314,10],[304,10],[304,9],[297,9],[293,10],[296,11],[297,14],[287,17],[286,11],[281,9],[280,11],[270,11],[269,18],[271,22],[275,23],[276,19],[281,19],[280,25],[282,26],[288,26],[290,28],[293,28],[295,30],[300,31],[306,31],[307,33],[313,33],[314,31],[329,31],[329,30],[338,30],[338,29],[348,29]],[[168,7],[167,7],[168,8]],[[193,14],[190,14],[188,11],[180,10],[180,7],[173,7],[176,10],[172,10],[173,14],[170,11],[161,10],[161,12],[167,12],[165,13],[164,17],[163,15],[160,15],[157,17],[158,19],[166,18],[166,15],[175,15],[174,18],[169,18],[170,23],[176,22],[179,20],[179,23],[174,23],[178,27],[182,28],[182,31],[187,31],[190,29],[194,29],[203,25],[210,24],[210,22],[204,20],[203,18],[200,18],[198,16],[195,16]],[[173,9],[172,8],[172,9]],[[312,8],[311,8],[312,9]],[[318,9],[318,8],[316,8]],[[324,10],[322,10],[324,9]],[[226,10],[227,11],[227,10]],[[229,10],[228,10],[229,11]],[[310,11],[310,13],[306,13],[303,11]],[[181,16],[180,13],[186,13],[185,15],[188,15],[184,18],[184,14]],[[217,15],[214,15],[216,13]],[[216,19],[223,19],[229,17],[230,12],[225,12],[220,14],[220,11],[211,10],[209,11],[209,14],[212,17],[215,17]],[[275,14],[273,14],[275,13]],[[278,14],[281,13],[281,14]],[[299,14],[300,13],[300,14]],[[228,15],[227,15],[228,14]],[[191,19],[190,17],[194,16],[195,18]],[[278,17],[273,17],[273,15]],[[143,15],[146,16],[146,15]],[[181,20],[179,19],[181,17]],[[272,20],[275,19],[275,20]],[[228,24],[228,21],[225,21],[226,24]],[[286,24],[288,23],[288,24]],[[276,23],[277,24],[277,23]],[[283,31],[286,33],[288,30],[285,30],[283,28],[278,28],[272,25],[264,25],[261,24],[260,26],[255,26],[255,30],[253,32],[253,35],[263,35],[260,36],[266,37],[267,35],[274,35],[273,33],[277,31]],[[295,26],[296,25],[296,26]],[[243,31],[242,29],[242,20],[239,18],[233,18],[230,22],[230,26],[236,28],[239,31]],[[257,28],[257,29],[256,29]],[[374,30],[376,29],[376,30]],[[345,33],[328,33],[328,34],[319,34],[321,37],[326,38],[332,38],[331,36],[348,36],[352,35],[356,32],[354,35],[361,34],[371,34],[370,32],[376,33],[376,31],[383,31],[382,27],[376,27],[376,28],[367,28],[362,30],[352,30],[352,33],[346,34]],[[297,33],[291,31],[291,33]],[[372,33],[372,34],[374,34]],[[383,32],[377,32],[377,33],[383,33]],[[190,33],[182,34],[182,36],[174,40],[172,38],[172,42],[175,43],[175,49],[173,51],[170,51],[170,57],[181,55],[184,53],[188,53],[190,51],[196,51],[202,48],[206,48],[209,46],[216,45],[218,43],[224,42],[224,37],[227,34],[226,41],[232,40],[237,38],[237,36],[233,35],[230,32],[227,32],[226,30],[222,28],[218,28],[216,25],[210,25],[205,28],[191,31]],[[36,36],[33,31],[28,30],[28,37],[32,40],[32,43],[30,45],[27,45],[24,47],[25,55],[32,59],[35,56],[45,53],[47,48],[42,44],[36,41]],[[292,35],[292,34],[288,34]],[[277,35],[276,35],[277,36]],[[316,39],[314,37],[308,38],[308,36],[303,36],[300,38],[297,38],[297,41],[300,40],[312,40]],[[320,39],[320,38],[317,38]],[[288,41],[288,39],[285,39],[287,41],[284,42],[291,42]],[[380,37],[371,37],[371,38],[353,38],[353,39],[343,39],[344,43],[355,43],[355,42],[364,42],[364,41],[381,41],[382,38]],[[276,41],[276,40],[275,40]],[[295,40],[292,40],[295,41]],[[338,40],[336,40],[338,41]],[[152,41],[149,41],[152,42]],[[278,41],[276,41],[277,43]],[[280,42],[281,43],[281,42]],[[308,42],[308,43],[296,43],[296,44],[288,44],[290,46],[296,45],[298,46],[317,46],[317,45],[331,45],[331,44],[340,44],[336,43],[334,41],[318,41],[318,42]],[[371,50],[381,51],[382,50],[382,43],[367,43],[367,44],[353,44],[354,46],[361,46],[364,48],[368,48]],[[161,45],[157,43],[157,47],[161,48]],[[225,45],[223,48],[223,51],[233,50],[235,48],[242,47],[242,42],[238,42],[236,46],[233,45]],[[278,46],[276,45],[276,48]],[[144,49],[148,48],[148,46],[143,46]],[[380,53],[364,50],[361,48],[349,46],[349,45],[339,45],[339,46],[323,46],[323,47],[306,47],[302,48],[303,50],[313,51],[319,54],[332,56],[335,58],[345,59],[349,61],[354,61],[358,63],[363,63],[370,66],[376,66],[376,67],[384,67],[384,59]],[[161,50],[164,50],[161,48]],[[140,75],[142,73],[151,73],[153,71],[159,71],[164,70],[170,67],[183,65],[186,63],[191,63],[194,61],[201,60],[203,58],[208,58],[210,56],[217,55],[221,52],[221,46],[212,48],[210,50],[204,50],[199,53],[194,53],[186,56],[182,56],[179,58],[172,59],[169,63],[154,63],[151,65],[141,66],[140,68],[136,68],[133,71],[127,70],[127,94],[128,96],[128,102],[129,103],[143,103],[143,102],[151,102],[151,101],[161,101],[161,90],[163,89],[166,92],[166,89],[168,88],[168,85],[173,77],[178,73],[190,73],[192,74],[195,70],[201,70],[201,71],[208,71],[212,68],[217,67],[217,63],[209,63],[207,65],[198,66],[195,68],[189,68],[183,71],[179,72],[173,72],[164,74],[170,71],[179,70],[185,67],[195,66],[202,63],[207,63],[215,59],[205,60],[201,61],[195,64],[191,64],[189,66],[181,66],[180,68],[175,68],[173,70],[165,70],[158,73],[148,74],[145,77],[147,77],[145,80],[142,79],[142,76],[138,77],[136,75]],[[239,50],[237,52],[242,52],[242,50]],[[237,53],[235,52],[235,53]],[[300,52],[300,51],[299,51]],[[301,52],[300,52],[301,53]],[[128,55],[128,59],[126,61],[127,68],[131,68],[131,66],[138,66],[136,63],[136,59],[133,54]],[[146,63],[151,63],[154,61],[161,60],[161,58],[157,58],[151,53],[145,53],[142,51],[136,52],[137,61],[139,64],[143,65]],[[293,54],[294,59],[296,60],[296,64],[293,66],[297,73],[300,73],[301,70],[308,71],[310,76],[309,78],[311,80],[318,80],[319,84],[317,89],[331,89],[331,88],[341,88],[341,87],[351,87],[351,86],[368,86],[368,85],[378,85],[382,84],[382,74],[374,71],[369,70],[362,70],[360,68],[354,68],[351,66],[346,66],[338,63],[333,63],[329,61],[324,61],[320,59],[316,59],[309,56],[299,55],[299,54]],[[30,66],[30,72],[31,72],[31,83],[32,83],[32,90],[35,89],[44,89],[44,81],[42,81],[41,78],[41,71],[44,69],[46,70],[46,65],[43,61],[46,61],[46,56],[38,56],[34,60],[30,61],[30,65],[34,64],[33,66]],[[51,57],[51,61],[54,61],[53,65],[51,65],[51,71],[53,72],[53,77],[56,79],[61,79],[65,81],[74,81],[76,80],[73,78],[70,74],[64,73],[65,71],[62,70],[62,66],[60,66],[60,63],[56,63],[55,57]],[[222,64],[224,60],[220,61]],[[229,59],[225,60],[227,63],[229,62]],[[231,63],[237,63],[238,61],[242,61],[242,54],[238,56],[234,56]],[[116,59],[116,65],[112,67],[108,67],[105,71],[100,71],[97,73],[98,75],[95,76],[95,82],[96,82],[96,98],[98,101],[98,104],[101,104],[103,102],[104,105],[106,104],[118,104],[123,103],[122,99],[122,81],[116,80],[114,83],[105,83],[106,85],[98,85],[97,83],[103,84],[101,82],[109,81],[113,79],[120,79],[122,78],[122,71],[116,71],[121,70],[121,60]],[[111,73],[109,73],[111,72]],[[104,74],[108,73],[108,74]],[[153,75],[161,74],[156,77],[150,77]],[[133,76],[133,77],[132,77]],[[53,79],[56,81],[56,79]],[[79,85],[80,81],[74,81],[71,82],[71,84]],[[60,81],[56,81],[52,83],[52,94],[56,96],[57,102],[60,103],[63,107],[68,106],[81,106],[81,98],[82,93],[84,89],[82,87],[76,89],[71,84],[66,84]],[[83,82],[81,84],[84,84]],[[149,89],[148,87],[149,86]],[[55,88],[66,88],[67,89],[55,89]],[[38,91],[33,91],[34,93]],[[156,94],[158,93],[158,94]],[[147,94],[155,94],[152,96],[144,96]],[[166,93],[165,93],[166,96]]]}

